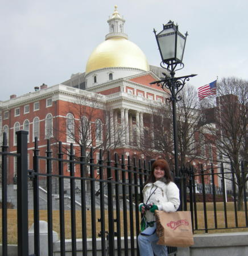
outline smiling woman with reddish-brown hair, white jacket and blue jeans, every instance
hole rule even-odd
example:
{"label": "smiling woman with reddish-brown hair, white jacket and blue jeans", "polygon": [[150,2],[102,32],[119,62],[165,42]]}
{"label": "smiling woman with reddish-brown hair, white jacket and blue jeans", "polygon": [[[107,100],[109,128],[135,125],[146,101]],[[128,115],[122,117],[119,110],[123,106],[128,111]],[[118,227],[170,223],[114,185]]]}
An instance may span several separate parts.
{"label": "smiling woman with reddish-brown hair, white jacket and blue jeans", "polygon": [[[157,245],[159,238],[156,234],[155,210],[176,212],[180,205],[179,189],[172,182],[169,164],[166,160],[158,159],[151,167],[151,174],[143,189],[143,203],[139,210],[144,213],[145,229],[138,236],[140,256],[167,256],[167,248]],[[150,205],[147,207],[147,205]],[[150,209],[148,209],[150,208]],[[154,227],[154,228],[151,228]]]}

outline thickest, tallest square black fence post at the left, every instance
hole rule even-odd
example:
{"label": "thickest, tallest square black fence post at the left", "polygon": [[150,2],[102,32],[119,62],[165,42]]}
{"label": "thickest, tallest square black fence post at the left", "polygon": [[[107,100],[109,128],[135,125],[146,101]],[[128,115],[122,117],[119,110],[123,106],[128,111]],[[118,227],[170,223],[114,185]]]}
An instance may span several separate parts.
{"label": "thickest, tallest square black fence post at the left", "polygon": [[18,256],[28,256],[27,131],[17,135],[17,230]]}

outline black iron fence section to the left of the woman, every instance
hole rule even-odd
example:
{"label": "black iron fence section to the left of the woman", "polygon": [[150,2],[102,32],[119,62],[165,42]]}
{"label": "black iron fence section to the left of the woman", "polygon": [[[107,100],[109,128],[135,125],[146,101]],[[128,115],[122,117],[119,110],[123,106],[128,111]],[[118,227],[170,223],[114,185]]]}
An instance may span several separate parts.
{"label": "black iron fence section to the left of the woman", "polygon": [[[18,223],[18,256],[28,256],[28,209],[33,210],[34,219],[34,255],[39,256],[40,227],[42,219],[40,211],[40,186],[44,186],[46,193],[46,216],[48,224],[48,255],[53,255],[53,230],[56,229],[60,236],[60,255],[65,255],[65,239],[71,240],[71,254],[77,255],[78,241],[82,238],[80,255],[97,255],[97,238],[101,238],[101,255],[139,255],[137,240],[139,234],[140,214],[138,204],[142,200],[142,187],[149,173],[146,161],[121,159],[117,154],[111,158],[110,152],[104,159],[100,150],[98,163],[94,159],[93,148],[89,152],[87,161],[84,148],[80,147],[79,155],[75,155],[73,144],[69,147],[69,154],[63,151],[63,143],[56,145],[47,141],[45,154],[40,154],[38,139],[35,138],[33,150],[33,168],[28,170],[27,159],[27,132],[18,131],[17,153],[7,152],[6,134],[3,133],[2,152],[2,255],[8,255],[7,241],[7,175],[8,158],[17,158],[17,223]],[[56,150],[55,150],[56,146]],[[57,153],[52,155],[52,152]],[[43,150],[44,152],[44,150]],[[9,159],[10,160],[10,159]],[[55,168],[56,166],[56,168]],[[69,166],[69,173],[65,169]],[[52,168],[53,167],[53,168]],[[89,170],[89,171],[88,171]],[[96,170],[99,176],[96,178]],[[10,174],[9,174],[10,175]],[[32,185],[28,185],[28,183]],[[59,184],[59,189],[54,184]],[[57,182],[58,181],[58,182]],[[45,184],[45,185],[44,185]],[[77,187],[77,189],[76,189]],[[99,189],[97,189],[97,188]],[[32,197],[28,193],[32,191]],[[55,201],[54,191],[59,191],[59,224],[54,221]],[[65,191],[67,192],[65,194]],[[90,194],[90,203],[88,195]],[[69,197],[70,204],[65,203],[65,195]],[[141,197],[140,197],[141,195]],[[81,209],[76,208],[76,197],[80,198]],[[65,210],[65,208],[69,208]],[[68,224],[68,219],[70,223]],[[81,223],[78,224],[78,221]],[[100,222],[100,223],[98,223]],[[68,230],[69,225],[69,230]],[[78,233],[81,229],[81,233]],[[68,233],[71,235],[68,237]],[[92,246],[88,248],[87,238]],[[123,243],[122,243],[123,239]],[[116,241],[116,242],[115,242]],[[99,247],[99,246],[98,246]],[[171,254],[176,253],[175,247],[168,247]]]}

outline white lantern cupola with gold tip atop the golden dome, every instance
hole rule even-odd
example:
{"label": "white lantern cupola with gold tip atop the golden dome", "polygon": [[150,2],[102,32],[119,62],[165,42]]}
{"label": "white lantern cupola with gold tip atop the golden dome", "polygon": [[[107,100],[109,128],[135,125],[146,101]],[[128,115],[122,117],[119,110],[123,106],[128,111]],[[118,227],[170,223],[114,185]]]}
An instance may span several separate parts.
{"label": "white lantern cupola with gold tip atop the golden dome", "polygon": [[128,39],[127,34],[125,34],[123,31],[125,19],[119,15],[117,11],[117,5],[114,6],[114,13],[112,17],[108,19],[109,23],[109,34],[105,36],[105,40],[108,40],[109,38],[114,37],[121,37]]}

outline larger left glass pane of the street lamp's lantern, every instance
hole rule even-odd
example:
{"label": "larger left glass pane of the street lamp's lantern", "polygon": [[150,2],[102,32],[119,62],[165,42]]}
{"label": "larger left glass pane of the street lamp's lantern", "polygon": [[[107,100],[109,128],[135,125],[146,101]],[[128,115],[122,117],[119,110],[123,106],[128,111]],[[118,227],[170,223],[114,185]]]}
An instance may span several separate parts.
{"label": "larger left glass pane of the street lamp's lantern", "polygon": [[158,37],[159,47],[162,52],[163,60],[175,57],[175,31],[171,35]]}

